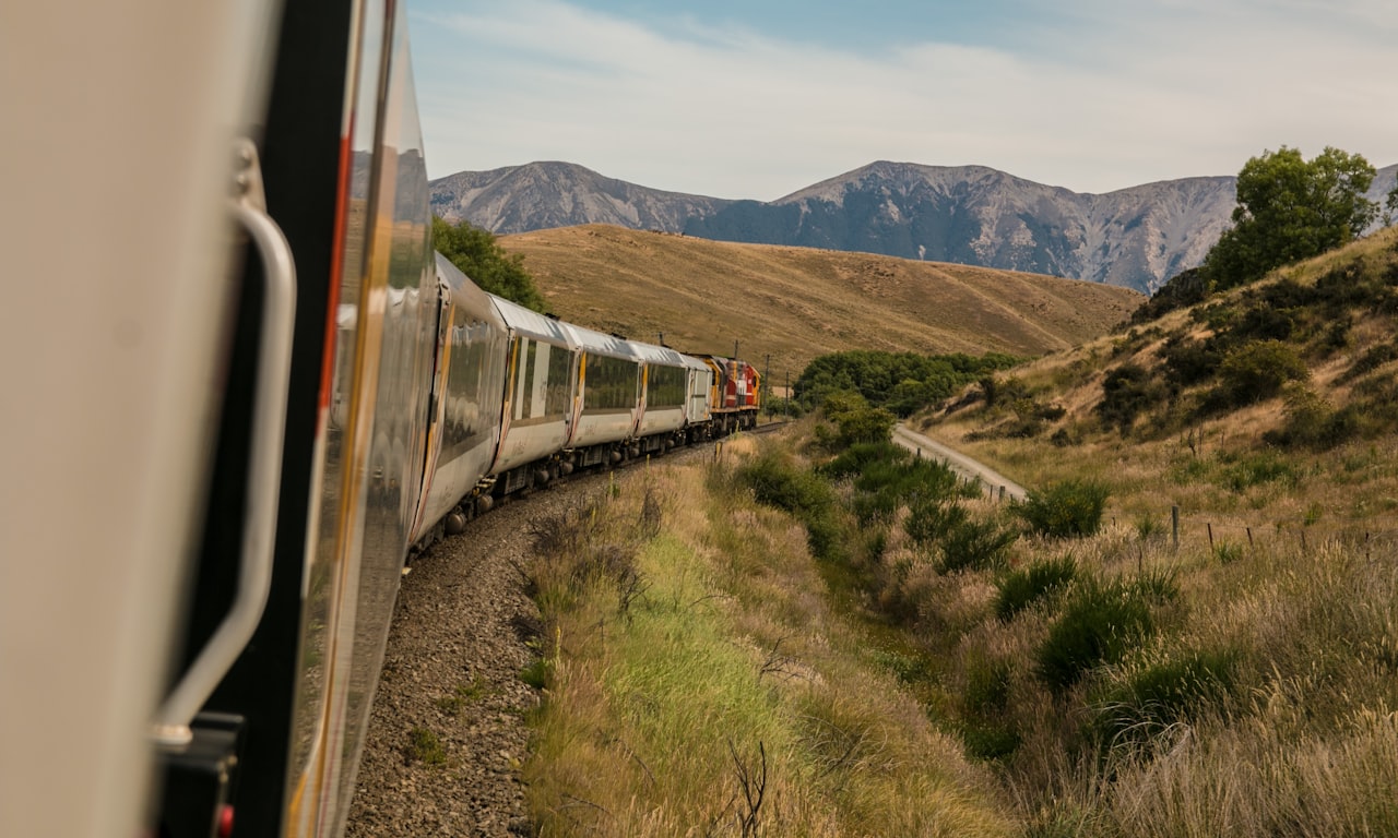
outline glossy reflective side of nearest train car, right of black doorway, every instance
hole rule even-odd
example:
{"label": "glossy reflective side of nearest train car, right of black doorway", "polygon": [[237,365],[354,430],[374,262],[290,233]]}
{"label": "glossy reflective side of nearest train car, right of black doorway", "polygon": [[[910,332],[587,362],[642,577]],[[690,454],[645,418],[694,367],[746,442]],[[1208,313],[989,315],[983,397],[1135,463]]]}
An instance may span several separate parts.
{"label": "glossy reflective side of nearest train car, right of black doorway", "polygon": [[295,696],[289,835],[338,835],[419,507],[439,297],[407,21],[366,0],[355,15],[343,158],[340,300],[352,332],[347,422],[327,429]]}

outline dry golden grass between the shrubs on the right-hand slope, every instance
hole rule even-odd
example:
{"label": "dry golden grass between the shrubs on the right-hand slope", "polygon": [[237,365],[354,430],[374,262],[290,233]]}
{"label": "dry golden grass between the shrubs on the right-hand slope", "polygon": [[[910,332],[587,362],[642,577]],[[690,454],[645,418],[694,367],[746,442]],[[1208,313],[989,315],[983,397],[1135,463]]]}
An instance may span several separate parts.
{"label": "dry golden grass between the shrubs on the right-hand slope", "polygon": [[[1268,282],[1314,284],[1349,264],[1391,271],[1395,249],[1398,229],[1390,229]],[[1336,408],[1356,390],[1339,374],[1394,339],[1392,314],[1353,310],[1352,320],[1338,355],[1309,358],[1307,387]],[[1151,328],[1162,334],[1111,335],[1012,370],[1032,398],[1065,408],[1035,439],[986,436],[1008,416],[977,408],[918,423],[1030,489],[1064,479],[1110,486],[1099,535],[1023,539],[1019,561],[1071,552],[1106,578],[1169,573],[1177,601],[1125,661],[1054,701],[1023,663],[1047,635],[1051,610],[1011,623],[962,616],[949,683],[987,656],[1021,662],[1009,704],[1023,743],[1004,777],[1030,834],[1398,834],[1398,439],[1274,448],[1262,434],[1285,420],[1282,398],[1165,432],[1144,418],[1123,437],[1093,413],[1104,372],[1127,362],[1149,369],[1165,335],[1204,327],[1177,311],[1142,331]],[[1387,362],[1374,374],[1395,367]],[[1069,441],[1050,444],[1055,430]],[[1158,733],[1152,750],[1075,751],[1103,696],[1198,652],[1233,655],[1227,698]]]}

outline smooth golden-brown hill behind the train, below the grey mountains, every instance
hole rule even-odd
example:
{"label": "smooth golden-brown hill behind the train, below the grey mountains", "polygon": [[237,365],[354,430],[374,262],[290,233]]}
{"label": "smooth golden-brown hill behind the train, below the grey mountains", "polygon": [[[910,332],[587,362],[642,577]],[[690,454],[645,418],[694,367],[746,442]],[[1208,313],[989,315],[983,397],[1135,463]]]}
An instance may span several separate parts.
{"label": "smooth golden-brown hill behind the train, below the grey mountains", "polygon": [[1043,355],[1095,338],[1144,297],[1123,288],[802,247],[587,225],[502,236],[554,313],[692,352],[772,355],[772,374],[825,352]]}

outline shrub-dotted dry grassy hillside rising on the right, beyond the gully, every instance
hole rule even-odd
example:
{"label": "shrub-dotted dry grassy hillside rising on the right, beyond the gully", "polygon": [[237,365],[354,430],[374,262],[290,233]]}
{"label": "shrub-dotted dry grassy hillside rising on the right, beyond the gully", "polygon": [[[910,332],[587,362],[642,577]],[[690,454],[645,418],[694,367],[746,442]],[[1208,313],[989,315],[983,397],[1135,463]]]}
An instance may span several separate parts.
{"label": "shrub-dotted dry grassy hillside rising on the right, beyond the gully", "polygon": [[1028,834],[1395,834],[1395,332],[1388,229],[918,422],[1040,496],[1107,499],[998,568],[881,557],[882,596],[939,615],[909,630]]}

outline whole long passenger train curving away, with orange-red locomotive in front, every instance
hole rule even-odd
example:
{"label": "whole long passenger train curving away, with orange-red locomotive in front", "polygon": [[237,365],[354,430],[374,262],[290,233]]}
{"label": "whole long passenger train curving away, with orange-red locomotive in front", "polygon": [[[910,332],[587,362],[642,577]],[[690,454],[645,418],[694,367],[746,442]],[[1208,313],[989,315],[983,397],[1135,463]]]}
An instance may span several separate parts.
{"label": "whole long passenger train curving away, with orange-red locomotive in front", "polygon": [[410,553],[756,420],[436,254],[405,15],[7,20],[0,834],[340,835]]}

